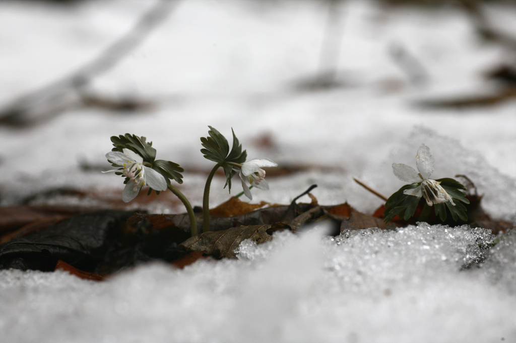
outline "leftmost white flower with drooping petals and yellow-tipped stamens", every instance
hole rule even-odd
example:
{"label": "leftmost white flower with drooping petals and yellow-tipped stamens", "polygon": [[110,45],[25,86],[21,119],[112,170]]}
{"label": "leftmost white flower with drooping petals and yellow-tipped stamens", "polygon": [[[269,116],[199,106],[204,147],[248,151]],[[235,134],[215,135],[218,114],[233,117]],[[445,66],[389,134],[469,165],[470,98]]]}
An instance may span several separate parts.
{"label": "leftmost white flower with drooping petals and yellow-tipped stamens", "polygon": [[[144,166],[143,158],[140,155],[129,149],[122,149],[122,151],[109,151],[106,153],[106,158],[112,164],[122,166],[123,175],[129,178],[122,193],[124,202],[136,198],[141,187],[145,185],[150,186],[155,191],[167,190],[165,177],[151,167]],[[109,173],[110,171],[120,171],[120,169],[103,171],[103,173]]]}

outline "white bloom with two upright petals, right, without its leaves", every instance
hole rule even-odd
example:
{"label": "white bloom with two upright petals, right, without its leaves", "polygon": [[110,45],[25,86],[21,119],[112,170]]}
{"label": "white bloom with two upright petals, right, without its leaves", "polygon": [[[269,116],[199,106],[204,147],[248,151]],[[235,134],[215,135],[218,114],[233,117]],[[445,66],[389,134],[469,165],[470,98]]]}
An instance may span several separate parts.
{"label": "white bloom with two upright petals, right, without its leaves", "polygon": [[431,206],[434,203],[441,203],[449,201],[455,206],[453,199],[449,196],[444,188],[440,185],[440,182],[429,179],[436,165],[436,160],[433,158],[433,153],[430,148],[422,144],[417,149],[416,155],[416,166],[419,174],[414,168],[406,164],[392,164],[392,171],[394,175],[401,181],[418,183],[418,186],[405,190],[403,193],[407,195],[413,195],[416,197],[424,197],[426,203]]}

